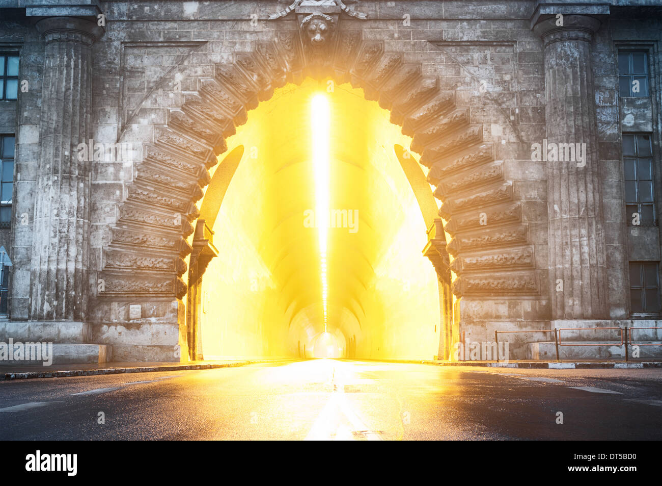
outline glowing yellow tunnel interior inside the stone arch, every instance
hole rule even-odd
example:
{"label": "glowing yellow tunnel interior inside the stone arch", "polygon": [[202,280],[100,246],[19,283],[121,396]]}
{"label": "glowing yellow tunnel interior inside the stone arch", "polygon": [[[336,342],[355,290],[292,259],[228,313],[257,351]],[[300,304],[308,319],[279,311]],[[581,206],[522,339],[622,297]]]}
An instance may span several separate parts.
{"label": "glowing yellow tunnel interior inside the stone arch", "polygon": [[389,111],[308,79],[227,143],[201,204],[218,256],[189,304],[197,357],[438,355],[440,290],[422,255],[438,206]]}

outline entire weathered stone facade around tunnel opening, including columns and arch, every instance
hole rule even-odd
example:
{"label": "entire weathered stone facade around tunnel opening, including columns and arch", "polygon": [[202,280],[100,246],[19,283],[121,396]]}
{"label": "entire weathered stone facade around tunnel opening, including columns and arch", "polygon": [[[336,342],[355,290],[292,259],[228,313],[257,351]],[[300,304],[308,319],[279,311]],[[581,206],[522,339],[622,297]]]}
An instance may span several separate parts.
{"label": "entire weathered stone facade around tunnel opening, including columns and arch", "polygon": [[[30,88],[0,101],[0,133],[16,135],[7,336],[30,323],[117,359],[186,360],[210,170],[248,111],[306,77],[362,88],[412,138],[440,201],[421,235],[449,290],[440,349],[659,318],[630,302],[630,262],[661,252],[659,225],[627,224],[622,133],[651,136],[657,211],[662,1],[14,3],[0,54],[19,53]],[[324,29],[301,30],[311,15]],[[647,97],[619,91],[632,50],[647,53]],[[127,152],[81,160],[81,143]],[[536,160],[543,143],[585,160]]]}

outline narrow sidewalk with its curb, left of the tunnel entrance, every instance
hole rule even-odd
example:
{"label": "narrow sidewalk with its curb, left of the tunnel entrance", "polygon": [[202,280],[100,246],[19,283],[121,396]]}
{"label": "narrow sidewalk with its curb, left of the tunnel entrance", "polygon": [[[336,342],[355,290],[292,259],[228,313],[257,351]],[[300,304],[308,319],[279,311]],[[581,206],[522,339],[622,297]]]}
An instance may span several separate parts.
{"label": "narrow sidewalk with its curb, left of the tunnel entrance", "polygon": [[287,363],[294,359],[259,359],[252,361],[189,361],[188,363],[135,362],[92,363],[89,365],[3,365],[0,381],[30,378],[87,377],[118,375],[120,373],[150,373],[152,371],[181,371],[193,369],[234,368],[255,363]]}

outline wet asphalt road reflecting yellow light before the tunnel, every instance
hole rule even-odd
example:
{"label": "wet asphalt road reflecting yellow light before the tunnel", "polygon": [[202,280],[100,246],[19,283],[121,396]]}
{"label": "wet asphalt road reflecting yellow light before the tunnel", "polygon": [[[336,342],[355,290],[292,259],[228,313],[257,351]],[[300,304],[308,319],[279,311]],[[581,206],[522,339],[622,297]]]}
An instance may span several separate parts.
{"label": "wet asphalt road reflecting yellow light before the tunnel", "polygon": [[310,360],[2,381],[0,439],[661,440],[662,369]]}

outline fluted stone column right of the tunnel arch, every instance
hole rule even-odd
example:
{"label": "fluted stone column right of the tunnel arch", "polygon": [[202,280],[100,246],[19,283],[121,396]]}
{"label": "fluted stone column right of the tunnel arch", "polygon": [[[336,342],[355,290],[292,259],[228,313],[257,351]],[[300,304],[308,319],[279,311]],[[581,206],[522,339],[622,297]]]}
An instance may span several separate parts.
{"label": "fluted stone column right of the tunnel arch", "polygon": [[[547,152],[555,143],[563,159],[546,158],[552,318],[604,319],[606,253],[591,72],[591,39],[600,21],[585,15],[562,21],[559,26],[551,17],[534,26],[545,48]],[[574,160],[571,147],[560,144],[573,144]]]}

